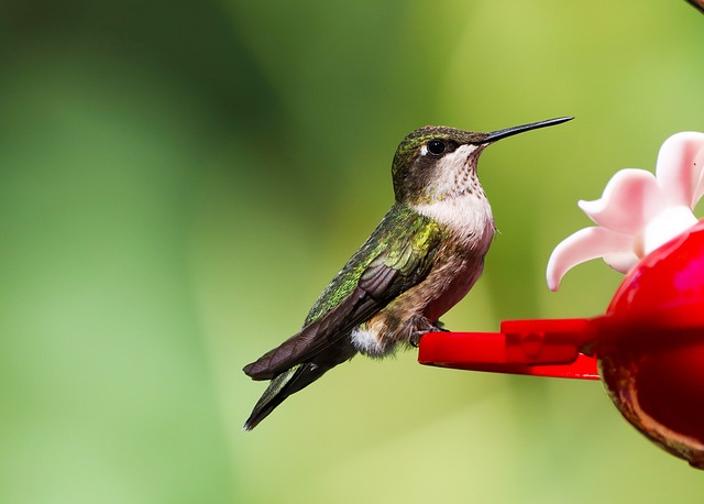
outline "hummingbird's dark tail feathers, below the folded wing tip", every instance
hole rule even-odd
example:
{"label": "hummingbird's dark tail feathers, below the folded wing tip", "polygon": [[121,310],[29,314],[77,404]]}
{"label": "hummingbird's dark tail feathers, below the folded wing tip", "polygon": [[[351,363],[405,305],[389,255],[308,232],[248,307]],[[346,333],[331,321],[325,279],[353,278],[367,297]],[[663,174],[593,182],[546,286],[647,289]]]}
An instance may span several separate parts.
{"label": "hummingbird's dark tail feathers, below the folded wing tip", "polygon": [[312,382],[322,376],[330,368],[320,368],[306,362],[298,364],[288,371],[284,371],[268,384],[262,397],[257,401],[252,414],[244,423],[244,430],[252,430],[264,418],[272,413],[276,406],[282,404],[286,397],[301,388],[307,387]]}

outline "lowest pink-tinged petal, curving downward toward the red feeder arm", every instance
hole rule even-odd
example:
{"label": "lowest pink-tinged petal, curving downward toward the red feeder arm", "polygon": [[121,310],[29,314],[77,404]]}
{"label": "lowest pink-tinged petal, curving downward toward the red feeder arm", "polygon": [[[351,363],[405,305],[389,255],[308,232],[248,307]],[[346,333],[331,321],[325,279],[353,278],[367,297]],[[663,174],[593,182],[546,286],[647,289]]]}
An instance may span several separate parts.
{"label": "lowest pink-tinged petal, curving downward toward the red feeder arm", "polygon": [[565,238],[548,261],[547,281],[557,291],[564,274],[580,263],[605,255],[629,253],[634,237],[605,228],[585,228]]}

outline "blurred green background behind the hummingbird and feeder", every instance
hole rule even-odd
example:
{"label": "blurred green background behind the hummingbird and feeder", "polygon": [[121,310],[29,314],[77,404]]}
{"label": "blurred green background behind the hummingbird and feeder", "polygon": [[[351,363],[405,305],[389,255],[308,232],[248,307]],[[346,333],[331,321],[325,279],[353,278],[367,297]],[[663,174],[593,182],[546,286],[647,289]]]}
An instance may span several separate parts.
{"label": "blurred green background behind the hummingbird and feeder", "polygon": [[443,318],[597,315],[543,274],[575,202],[704,130],[684,1],[0,4],[0,502],[701,503],[598,383],[356,358],[253,432],[242,365],[293,335],[392,204],[410,130],[492,146],[501,234]]}

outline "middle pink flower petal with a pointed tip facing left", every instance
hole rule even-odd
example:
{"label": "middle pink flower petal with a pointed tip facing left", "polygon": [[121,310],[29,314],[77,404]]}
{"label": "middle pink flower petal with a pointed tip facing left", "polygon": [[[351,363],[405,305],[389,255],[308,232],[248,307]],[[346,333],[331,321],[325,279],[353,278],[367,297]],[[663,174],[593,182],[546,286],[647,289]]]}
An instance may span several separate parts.
{"label": "middle pink flower petal with a pointed tip facing left", "polygon": [[594,201],[580,201],[580,208],[597,224],[613,231],[637,234],[664,208],[664,199],[650,172],[626,168],[608,180],[604,194]]}

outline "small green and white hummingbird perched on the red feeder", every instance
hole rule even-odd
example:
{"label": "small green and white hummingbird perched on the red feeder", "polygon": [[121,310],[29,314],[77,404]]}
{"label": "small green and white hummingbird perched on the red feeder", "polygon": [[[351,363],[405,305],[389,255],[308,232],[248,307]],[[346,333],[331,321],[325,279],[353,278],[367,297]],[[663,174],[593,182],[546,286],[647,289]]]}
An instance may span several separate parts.
{"label": "small green and white hummingbird perched on the red feeder", "polygon": [[496,231],[477,176],[490,144],[573,118],[480,133],[425,127],[398,145],[395,201],[372,235],[332,278],[299,332],[244,366],[270,380],[244,424],[251,430],[286,397],[362,353],[383,358],[446,330],[440,317],[474,286]]}

